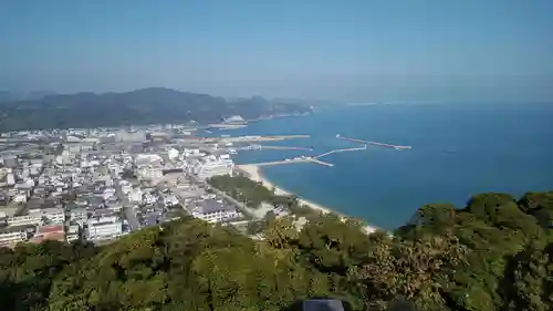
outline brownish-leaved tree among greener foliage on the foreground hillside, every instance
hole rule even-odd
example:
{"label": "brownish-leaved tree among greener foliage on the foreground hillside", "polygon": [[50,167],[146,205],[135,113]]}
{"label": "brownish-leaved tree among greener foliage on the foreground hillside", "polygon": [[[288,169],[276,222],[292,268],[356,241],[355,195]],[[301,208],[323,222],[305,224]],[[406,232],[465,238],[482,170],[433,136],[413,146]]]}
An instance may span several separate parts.
{"label": "brownish-leaved tree among greener foliage on the foreground hillside", "polygon": [[[467,249],[455,236],[394,242],[382,240],[368,252],[367,263],[349,271],[361,280],[367,309],[384,309],[398,296],[420,310],[444,310],[442,291]],[[375,310],[375,309],[373,309]]]}

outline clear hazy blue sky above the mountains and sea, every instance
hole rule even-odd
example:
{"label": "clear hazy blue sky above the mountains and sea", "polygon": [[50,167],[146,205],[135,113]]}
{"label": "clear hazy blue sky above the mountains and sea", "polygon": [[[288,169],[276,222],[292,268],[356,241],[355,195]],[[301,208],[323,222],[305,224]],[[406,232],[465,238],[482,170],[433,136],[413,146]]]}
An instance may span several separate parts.
{"label": "clear hazy blue sky above the mountains and sea", "polygon": [[551,0],[2,0],[0,90],[552,101]]}

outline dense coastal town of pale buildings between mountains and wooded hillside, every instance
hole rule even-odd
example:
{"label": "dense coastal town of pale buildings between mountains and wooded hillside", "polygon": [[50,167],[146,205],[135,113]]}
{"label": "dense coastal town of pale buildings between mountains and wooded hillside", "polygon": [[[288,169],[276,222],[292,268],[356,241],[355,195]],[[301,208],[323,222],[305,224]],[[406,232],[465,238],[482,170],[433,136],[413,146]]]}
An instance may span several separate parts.
{"label": "dense coastal town of pale buildings between mountains and wooded hillside", "polygon": [[[251,210],[207,183],[239,170],[230,157],[237,138],[199,138],[195,131],[150,125],[0,134],[0,246],[103,245],[184,216],[241,230],[263,218],[267,208]],[[238,141],[272,139],[279,137]]]}

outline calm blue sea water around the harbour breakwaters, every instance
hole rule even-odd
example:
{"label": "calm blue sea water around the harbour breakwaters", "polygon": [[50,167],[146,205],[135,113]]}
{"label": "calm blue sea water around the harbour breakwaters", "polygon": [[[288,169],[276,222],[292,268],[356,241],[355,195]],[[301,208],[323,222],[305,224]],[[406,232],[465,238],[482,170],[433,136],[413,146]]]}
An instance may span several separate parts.
{"label": "calm blue sea water around the harbour breakwaters", "polygon": [[313,152],[249,151],[237,155],[239,164],[359,146],[336,134],[413,146],[409,151],[368,146],[322,158],[334,167],[263,168],[280,187],[386,229],[405,224],[428,203],[462,207],[477,193],[521,196],[553,189],[553,104],[342,106],[216,133],[311,135],[274,145],[313,146]]}

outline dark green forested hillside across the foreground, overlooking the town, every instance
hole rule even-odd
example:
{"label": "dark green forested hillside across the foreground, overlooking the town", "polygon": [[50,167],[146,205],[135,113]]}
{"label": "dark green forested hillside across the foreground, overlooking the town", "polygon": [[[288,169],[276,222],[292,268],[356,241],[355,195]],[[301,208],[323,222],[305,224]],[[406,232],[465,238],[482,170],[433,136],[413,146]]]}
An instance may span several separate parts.
{"label": "dark green forested hillside across the foreground, overlooking the town", "polygon": [[0,249],[2,310],[286,310],[334,297],[354,310],[553,310],[553,191],[473,196],[418,209],[395,237],[310,216],[270,221],[265,239],[182,219],[103,248]]}

